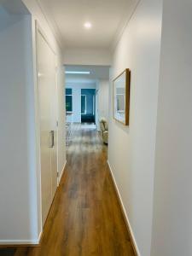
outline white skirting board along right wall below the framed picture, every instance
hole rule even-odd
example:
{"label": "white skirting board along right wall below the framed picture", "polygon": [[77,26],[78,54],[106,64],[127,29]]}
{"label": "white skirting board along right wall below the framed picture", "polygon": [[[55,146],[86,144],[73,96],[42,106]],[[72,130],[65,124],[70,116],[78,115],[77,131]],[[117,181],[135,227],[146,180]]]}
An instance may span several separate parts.
{"label": "white skirting board along right wall below the framed picture", "polygon": [[136,256],[141,256],[141,253],[139,253],[139,249],[137,247],[137,242],[136,242],[135,236],[134,236],[133,231],[131,229],[131,224],[130,224],[129,218],[128,218],[128,216],[126,214],[126,211],[125,211],[124,203],[121,199],[117,183],[116,183],[115,178],[113,176],[113,171],[112,171],[112,168],[110,166],[109,161],[108,161],[108,168],[109,168],[109,171],[110,171],[112,179],[113,179],[113,184],[114,184],[114,187],[115,187],[118,199],[119,199],[119,204],[120,204],[123,216],[125,218],[125,224],[127,226],[127,230],[129,231],[129,234],[130,234],[130,237],[131,237],[131,244],[132,244],[132,247],[134,249],[134,253],[136,254]]}

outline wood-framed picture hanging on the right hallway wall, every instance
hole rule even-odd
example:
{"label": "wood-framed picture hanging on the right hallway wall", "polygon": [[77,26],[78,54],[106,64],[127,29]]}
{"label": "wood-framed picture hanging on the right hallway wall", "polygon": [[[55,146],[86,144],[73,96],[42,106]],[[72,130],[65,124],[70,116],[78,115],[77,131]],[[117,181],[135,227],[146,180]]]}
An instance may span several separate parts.
{"label": "wood-framed picture hanging on the right hallway wall", "polygon": [[129,125],[130,119],[130,82],[128,68],[113,79],[113,118],[123,125]]}

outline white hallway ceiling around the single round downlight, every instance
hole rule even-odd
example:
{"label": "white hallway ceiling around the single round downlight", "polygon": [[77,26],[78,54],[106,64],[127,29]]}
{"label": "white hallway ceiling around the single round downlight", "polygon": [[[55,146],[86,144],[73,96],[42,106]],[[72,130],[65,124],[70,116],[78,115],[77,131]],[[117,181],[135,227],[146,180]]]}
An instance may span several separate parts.
{"label": "white hallway ceiling around the single round downlight", "polygon": [[[108,48],[137,0],[37,0],[67,48]],[[90,21],[92,28],[84,29]]]}

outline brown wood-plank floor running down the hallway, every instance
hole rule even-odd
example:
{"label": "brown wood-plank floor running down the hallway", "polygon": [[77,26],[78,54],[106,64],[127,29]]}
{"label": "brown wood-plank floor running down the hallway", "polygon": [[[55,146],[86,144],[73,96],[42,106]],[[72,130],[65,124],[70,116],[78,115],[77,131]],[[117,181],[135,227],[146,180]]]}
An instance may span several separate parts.
{"label": "brown wood-plank floor running down the hallway", "polygon": [[76,126],[67,166],[39,247],[15,256],[133,256],[107,164],[107,146],[96,130]]}

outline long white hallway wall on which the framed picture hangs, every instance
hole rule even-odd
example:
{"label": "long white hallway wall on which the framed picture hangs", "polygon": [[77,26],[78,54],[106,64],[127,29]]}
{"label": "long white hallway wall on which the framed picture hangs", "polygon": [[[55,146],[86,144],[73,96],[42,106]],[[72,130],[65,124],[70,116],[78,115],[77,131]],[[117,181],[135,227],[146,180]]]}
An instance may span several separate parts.
{"label": "long white hallway wall on which the framed picture hangs", "polygon": [[142,256],[151,247],[161,15],[160,0],[138,4],[114,50],[110,74],[112,80],[131,69],[129,127],[113,119],[110,84],[108,161]]}

